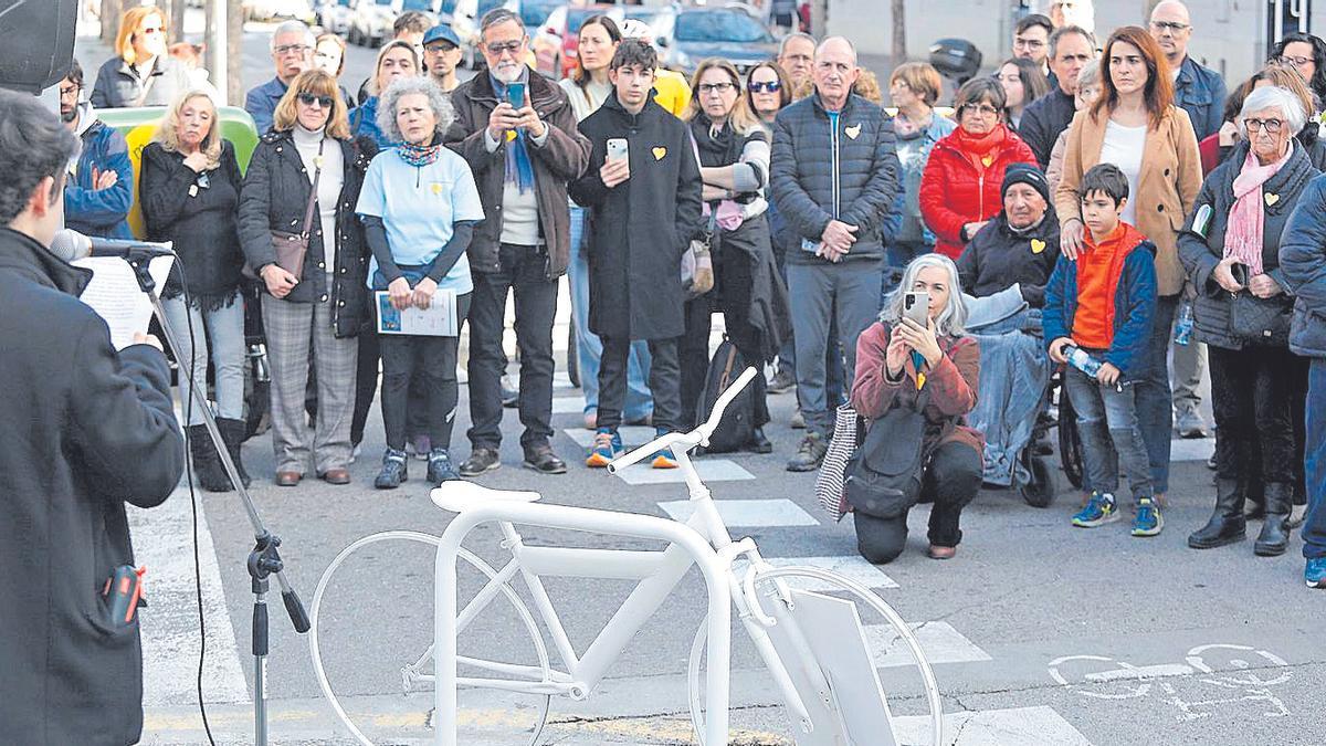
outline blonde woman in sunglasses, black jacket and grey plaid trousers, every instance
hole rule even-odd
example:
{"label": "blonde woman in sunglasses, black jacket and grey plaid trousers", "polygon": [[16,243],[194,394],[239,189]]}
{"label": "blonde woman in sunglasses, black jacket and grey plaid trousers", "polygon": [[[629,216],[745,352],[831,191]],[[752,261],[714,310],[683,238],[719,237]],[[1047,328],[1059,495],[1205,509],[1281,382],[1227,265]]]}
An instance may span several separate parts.
{"label": "blonde woman in sunglasses, black jacket and grey plaid trousers", "polygon": [[[412,53],[412,52],[411,52]],[[312,450],[317,475],[350,482],[350,419],[365,309],[367,251],[354,214],[377,149],[350,138],[335,78],[300,73],[273,113],[240,194],[240,243],[263,280],[263,324],[272,365],[272,446],[276,483],[304,478]],[[273,242],[294,234],[308,250],[278,256]],[[297,252],[293,252],[297,255]],[[312,447],[304,390],[309,346],[317,377],[317,427]]]}

